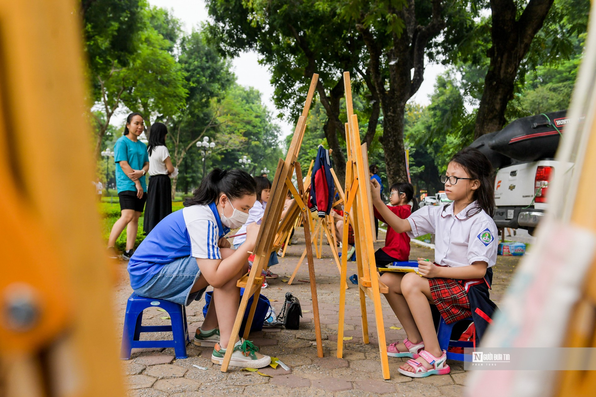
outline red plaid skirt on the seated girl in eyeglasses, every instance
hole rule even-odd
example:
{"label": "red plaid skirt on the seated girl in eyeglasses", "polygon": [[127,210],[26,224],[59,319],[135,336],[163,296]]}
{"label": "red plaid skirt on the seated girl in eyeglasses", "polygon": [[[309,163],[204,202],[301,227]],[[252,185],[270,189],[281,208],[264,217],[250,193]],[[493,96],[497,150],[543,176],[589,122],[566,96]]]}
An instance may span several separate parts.
{"label": "red plaid skirt on the seated girl in eyeglasses", "polygon": [[434,304],[446,324],[464,320],[472,315],[470,299],[462,286],[454,279],[429,279]]}

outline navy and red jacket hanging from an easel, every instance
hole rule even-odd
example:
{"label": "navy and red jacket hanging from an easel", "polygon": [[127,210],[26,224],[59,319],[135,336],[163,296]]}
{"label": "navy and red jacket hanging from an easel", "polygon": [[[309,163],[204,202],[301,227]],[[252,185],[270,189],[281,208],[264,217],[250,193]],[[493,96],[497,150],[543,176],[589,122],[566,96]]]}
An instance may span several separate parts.
{"label": "navy and red jacket hanging from an easel", "polygon": [[316,153],[315,165],[312,168],[311,176],[311,198],[308,201],[308,208],[311,212],[318,211],[319,218],[329,215],[333,204],[333,192],[335,185],[331,176],[331,162],[329,151],[319,145]]}

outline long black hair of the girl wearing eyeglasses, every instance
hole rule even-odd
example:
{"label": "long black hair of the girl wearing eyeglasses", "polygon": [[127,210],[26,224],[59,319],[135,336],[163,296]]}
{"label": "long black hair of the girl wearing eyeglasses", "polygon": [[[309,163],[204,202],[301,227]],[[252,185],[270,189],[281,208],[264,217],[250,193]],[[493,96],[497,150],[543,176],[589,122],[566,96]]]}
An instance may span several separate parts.
{"label": "long black hair of the girl wearing eyeglasses", "polygon": [[[482,152],[474,148],[464,148],[457,152],[449,162],[456,162],[468,173],[470,178],[479,180],[480,187],[474,191],[474,200],[489,216],[495,214],[495,187],[491,162]],[[467,217],[480,212],[477,209]]]}

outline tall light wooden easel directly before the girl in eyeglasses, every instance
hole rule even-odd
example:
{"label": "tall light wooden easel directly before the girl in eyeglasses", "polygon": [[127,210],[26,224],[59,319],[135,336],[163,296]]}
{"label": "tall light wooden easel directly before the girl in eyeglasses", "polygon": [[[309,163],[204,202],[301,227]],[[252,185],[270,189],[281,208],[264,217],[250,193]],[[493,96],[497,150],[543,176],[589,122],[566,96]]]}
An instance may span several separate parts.
{"label": "tall light wooden easel directly before the girl in eyeglasses", "polygon": [[[389,292],[377,273],[374,259],[374,223],[371,220],[371,201],[369,199],[368,164],[363,155],[358,130],[358,117],[353,114],[352,88],[350,86],[350,73],[343,74],[344,89],[346,92],[346,193],[344,195],[344,228],[343,240],[347,241],[348,225],[354,229],[354,243],[356,245],[356,265],[358,268],[358,287],[360,295],[360,311],[362,316],[362,340],[368,341],[368,320],[365,294],[373,301],[375,322],[377,324],[378,348],[381,357],[381,370],[383,379],[389,379],[389,360],[387,360],[387,345],[383,324],[383,309],[381,308],[381,293]],[[343,327],[346,311],[346,273],[347,273],[347,244],[342,249],[342,275],[340,277],[339,324],[337,327],[337,358],[343,357]]]}

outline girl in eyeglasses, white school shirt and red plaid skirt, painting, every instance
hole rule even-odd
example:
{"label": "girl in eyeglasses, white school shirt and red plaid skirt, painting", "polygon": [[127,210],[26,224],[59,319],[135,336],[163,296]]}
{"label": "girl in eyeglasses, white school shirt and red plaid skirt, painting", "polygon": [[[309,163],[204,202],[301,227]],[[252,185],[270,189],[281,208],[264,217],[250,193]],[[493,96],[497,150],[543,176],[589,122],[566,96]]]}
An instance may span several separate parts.
{"label": "girl in eyeglasses, white school shirt and red plaid skirt, painting", "polygon": [[453,202],[423,207],[407,219],[383,204],[378,183],[372,182],[374,207],[396,233],[408,233],[410,237],[435,235],[434,263],[418,258],[420,274],[381,276],[389,286],[387,301],[407,336],[387,348],[392,357],[411,358],[399,367],[399,373],[427,377],[451,370],[446,364],[446,351],[437,340],[429,302],[436,305],[446,324],[472,317],[470,327],[474,327],[476,344],[492,322],[496,306],[489,299],[489,289],[498,244],[492,220],[492,173],[485,155],[477,149],[463,149],[451,159],[446,174],[440,176]]}

